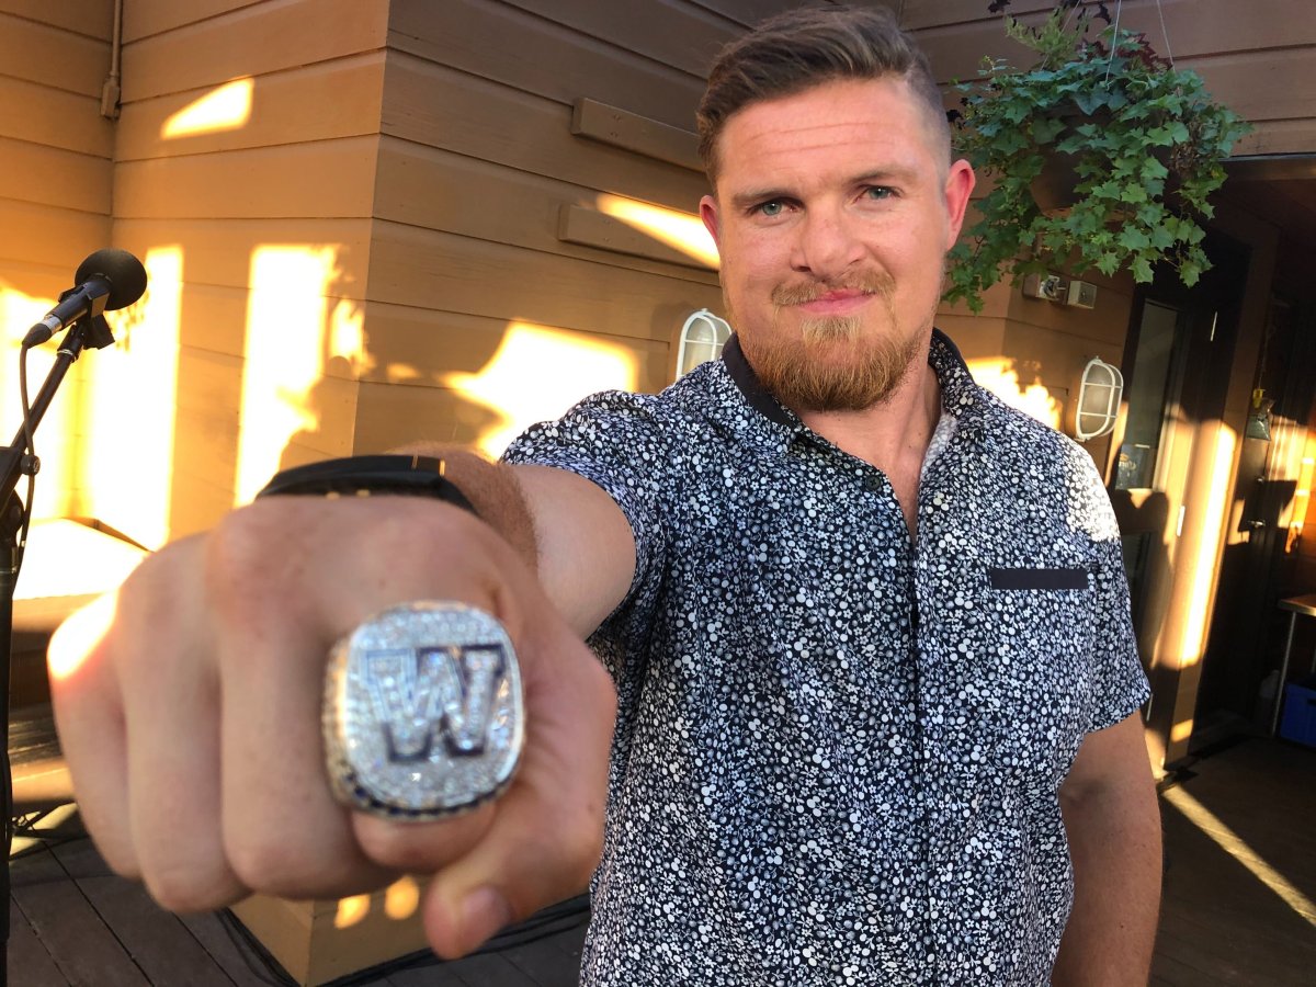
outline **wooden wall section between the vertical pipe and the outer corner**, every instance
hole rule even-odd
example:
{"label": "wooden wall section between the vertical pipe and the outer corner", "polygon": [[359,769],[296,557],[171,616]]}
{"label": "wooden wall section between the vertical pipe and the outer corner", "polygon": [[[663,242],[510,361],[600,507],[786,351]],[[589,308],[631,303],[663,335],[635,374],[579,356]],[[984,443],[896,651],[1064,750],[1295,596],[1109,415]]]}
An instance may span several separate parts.
{"label": "wooden wall section between the vertical pipe and the outer corner", "polygon": [[[100,457],[89,512],[145,544],[353,447],[387,12],[126,3],[114,240],[151,286],[132,358],[97,396],[166,468],[128,500]],[[157,380],[170,365],[172,387]]]}

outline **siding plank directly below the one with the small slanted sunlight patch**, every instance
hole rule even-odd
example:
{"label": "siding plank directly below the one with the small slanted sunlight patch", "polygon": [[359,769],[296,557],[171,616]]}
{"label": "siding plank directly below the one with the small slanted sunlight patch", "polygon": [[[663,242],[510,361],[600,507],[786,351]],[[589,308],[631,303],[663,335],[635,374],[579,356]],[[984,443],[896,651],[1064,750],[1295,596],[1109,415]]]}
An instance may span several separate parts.
{"label": "siding plank directly below the one with the small slanted sunlight patch", "polygon": [[258,147],[122,163],[121,218],[368,217],[378,138]]}

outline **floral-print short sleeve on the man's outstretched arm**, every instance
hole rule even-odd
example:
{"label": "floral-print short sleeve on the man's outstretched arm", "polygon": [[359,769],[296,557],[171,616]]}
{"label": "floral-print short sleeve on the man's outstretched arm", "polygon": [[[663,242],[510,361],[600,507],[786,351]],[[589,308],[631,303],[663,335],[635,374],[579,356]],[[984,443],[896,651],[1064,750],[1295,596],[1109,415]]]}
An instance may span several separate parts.
{"label": "floral-print short sleeve on the man's outstretched arm", "polygon": [[657,582],[667,545],[665,495],[675,478],[659,421],[659,399],[620,391],[597,393],[558,421],[533,425],[513,440],[503,462],[553,466],[600,487],[616,501],[636,540],[636,575],[619,611]]}

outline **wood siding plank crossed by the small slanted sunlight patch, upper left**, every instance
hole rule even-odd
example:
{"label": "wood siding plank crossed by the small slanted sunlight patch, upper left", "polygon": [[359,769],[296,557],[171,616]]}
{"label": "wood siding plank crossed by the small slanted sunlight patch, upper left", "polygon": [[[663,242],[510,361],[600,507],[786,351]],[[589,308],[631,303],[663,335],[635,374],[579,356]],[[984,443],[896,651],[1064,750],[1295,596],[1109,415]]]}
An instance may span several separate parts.
{"label": "wood siding plank crossed by the small slanted sunlight patch, upper left", "polygon": [[368,51],[261,76],[250,118],[229,130],[162,136],[171,116],[209,89],[129,103],[114,133],[116,158],[130,162],[379,133],[383,89],[384,53]]}

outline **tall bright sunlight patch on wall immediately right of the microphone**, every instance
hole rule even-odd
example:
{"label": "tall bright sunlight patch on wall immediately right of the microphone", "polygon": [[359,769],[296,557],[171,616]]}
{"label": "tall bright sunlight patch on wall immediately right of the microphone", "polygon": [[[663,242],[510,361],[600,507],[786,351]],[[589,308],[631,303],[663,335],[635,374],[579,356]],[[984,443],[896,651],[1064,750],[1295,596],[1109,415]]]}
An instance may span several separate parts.
{"label": "tall bright sunlight patch on wall immediately right of the microphone", "polygon": [[86,357],[96,361],[87,503],[93,517],[158,549],[170,536],[183,249],[151,247],[142,263],[142,300],[109,316],[114,346]]}

